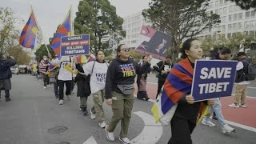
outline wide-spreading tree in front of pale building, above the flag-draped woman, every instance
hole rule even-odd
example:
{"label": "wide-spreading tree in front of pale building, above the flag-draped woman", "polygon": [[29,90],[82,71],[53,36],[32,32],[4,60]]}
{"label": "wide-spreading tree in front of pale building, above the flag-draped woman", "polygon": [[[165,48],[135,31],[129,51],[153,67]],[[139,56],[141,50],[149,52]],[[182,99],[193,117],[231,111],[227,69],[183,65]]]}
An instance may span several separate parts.
{"label": "wide-spreading tree in front of pale building, above the flag-draped woman", "polygon": [[153,22],[154,28],[172,36],[170,51],[175,59],[185,38],[193,38],[220,22],[218,14],[206,13],[209,1],[152,0],[142,15]]}

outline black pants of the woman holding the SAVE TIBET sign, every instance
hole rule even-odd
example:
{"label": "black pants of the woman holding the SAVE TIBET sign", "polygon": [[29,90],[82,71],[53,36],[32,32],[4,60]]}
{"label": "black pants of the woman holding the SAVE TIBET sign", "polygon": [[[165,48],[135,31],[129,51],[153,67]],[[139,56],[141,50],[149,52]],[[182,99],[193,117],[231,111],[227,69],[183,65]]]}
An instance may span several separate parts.
{"label": "black pants of the woman holding the SAVE TIBET sign", "polygon": [[171,137],[168,144],[192,144],[191,136],[195,122],[174,115],[170,121]]}

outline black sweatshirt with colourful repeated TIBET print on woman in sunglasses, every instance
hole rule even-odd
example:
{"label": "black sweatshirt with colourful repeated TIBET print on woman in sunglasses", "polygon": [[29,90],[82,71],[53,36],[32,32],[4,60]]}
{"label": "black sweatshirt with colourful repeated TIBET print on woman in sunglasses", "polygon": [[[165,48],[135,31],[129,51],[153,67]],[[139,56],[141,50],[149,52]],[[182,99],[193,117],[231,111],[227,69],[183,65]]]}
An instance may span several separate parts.
{"label": "black sweatshirt with colourful repeated TIBET print on woman in sunglasses", "polygon": [[149,67],[150,64],[148,62],[139,66],[137,62],[134,62],[134,60],[130,58],[128,61],[122,61],[120,58],[114,59],[110,63],[106,73],[106,99],[112,98],[112,91],[122,94],[117,85],[134,84],[136,74],[146,73],[146,70],[148,70]]}

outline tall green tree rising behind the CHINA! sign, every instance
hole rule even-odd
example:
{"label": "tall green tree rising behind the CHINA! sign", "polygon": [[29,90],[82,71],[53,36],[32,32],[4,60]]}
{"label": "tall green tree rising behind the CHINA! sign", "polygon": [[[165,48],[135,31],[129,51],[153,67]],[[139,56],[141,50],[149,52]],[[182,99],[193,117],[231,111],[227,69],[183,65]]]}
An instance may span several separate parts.
{"label": "tall green tree rising behind the CHINA! sign", "polygon": [[116,14],[114,6],[108,0],[81,0],[74,18],[74,34],[90,34],[90,48],[107,50],[102,38],[110,38],[110,34],[123,37],[123,19]]}

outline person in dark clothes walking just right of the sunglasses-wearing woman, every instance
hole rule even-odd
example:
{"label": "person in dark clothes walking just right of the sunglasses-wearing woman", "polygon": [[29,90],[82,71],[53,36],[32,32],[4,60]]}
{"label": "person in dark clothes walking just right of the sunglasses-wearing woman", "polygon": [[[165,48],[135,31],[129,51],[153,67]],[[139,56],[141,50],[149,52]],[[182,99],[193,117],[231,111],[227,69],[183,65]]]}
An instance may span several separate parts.
{"label": "person in dark clothes walking just right of the sunglasses-wearing woman", "polygon": [[[142,62],[139,62],[138,65],[142,66],[146,62],[148,62],[148,57],[143,56]],[[146,94],[146,77],[147,77],[147,74],[150,73],[150,71],[151,69],[149,67],[149,69],[146,70],[146,73],[137,75],[137,86],[138,86],[137,98],[138,99],[142,99],[142,100],[145,99],[146,101],[150,99]]]}

